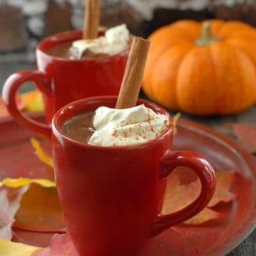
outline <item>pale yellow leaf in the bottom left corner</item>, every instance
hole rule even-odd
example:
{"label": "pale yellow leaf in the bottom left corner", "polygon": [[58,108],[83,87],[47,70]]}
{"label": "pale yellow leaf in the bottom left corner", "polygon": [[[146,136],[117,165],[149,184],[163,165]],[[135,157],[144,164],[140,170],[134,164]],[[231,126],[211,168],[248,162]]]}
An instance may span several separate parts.
{"label": "pale yellow leaf in the bottom left corner", "polygon": [[40,247],[27,246],[23,243],[10,242],[0,238],[0,255],[2,256],[32,256]]}

